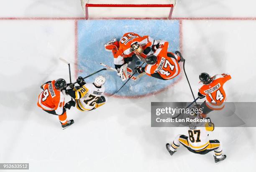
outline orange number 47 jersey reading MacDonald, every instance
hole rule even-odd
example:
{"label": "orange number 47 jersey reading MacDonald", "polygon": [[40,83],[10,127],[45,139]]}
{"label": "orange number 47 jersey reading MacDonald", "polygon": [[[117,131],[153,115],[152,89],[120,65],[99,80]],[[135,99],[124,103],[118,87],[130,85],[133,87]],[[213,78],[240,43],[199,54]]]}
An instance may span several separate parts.
{"label": "orange number 47 jersey reading MacDonald", "polygon": [[145,72],[147,75],[151,76],[154,73],[159,73],[159,75],[164,80],[170,80],[177,75],[179,75],[180,68],[178,61],[174,58],[167,57],[168,42],[161,45],[159,49],[159,55],[157,56],[157,62],[154,65],[146,65]]}

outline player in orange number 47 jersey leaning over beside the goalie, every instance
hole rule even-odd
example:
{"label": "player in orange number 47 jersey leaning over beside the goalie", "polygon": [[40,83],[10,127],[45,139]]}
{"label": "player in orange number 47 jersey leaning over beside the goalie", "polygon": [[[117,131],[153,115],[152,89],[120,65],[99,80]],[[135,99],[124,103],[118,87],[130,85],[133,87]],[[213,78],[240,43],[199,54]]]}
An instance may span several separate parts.
{"label": "player in orange number 47 jersey leaning over beside the goalie", "polygon": [[135,70],[138,73],[146,72],[147,75],[161,80],[171,80],[179,75],[179,62],[183,62],[184,59],[179,51],[175,54],[167,52],[168,42],[160,46],[157,56],[153,54],[146,57],[146,67],[137,66]]}

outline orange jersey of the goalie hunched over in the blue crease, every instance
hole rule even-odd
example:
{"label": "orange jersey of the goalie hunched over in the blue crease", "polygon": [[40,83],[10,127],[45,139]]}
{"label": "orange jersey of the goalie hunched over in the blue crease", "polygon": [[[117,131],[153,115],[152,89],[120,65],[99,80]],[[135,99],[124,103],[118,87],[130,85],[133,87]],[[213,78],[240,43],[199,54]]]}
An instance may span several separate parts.
{"label": "orange jersey of the goalie hunched over in the blue crease", "polygon": [[149,36],[141,37],[134,32],[125,33],[119,41],[118,52],[114,55],[115,65],[123,65],[124,58],[134,55],[134,52],[131,49],[131,44],[133,42],[138,42],[138,44],[141,45],[144,50],[146,47],[150,47],[153,45],[154,39]]}

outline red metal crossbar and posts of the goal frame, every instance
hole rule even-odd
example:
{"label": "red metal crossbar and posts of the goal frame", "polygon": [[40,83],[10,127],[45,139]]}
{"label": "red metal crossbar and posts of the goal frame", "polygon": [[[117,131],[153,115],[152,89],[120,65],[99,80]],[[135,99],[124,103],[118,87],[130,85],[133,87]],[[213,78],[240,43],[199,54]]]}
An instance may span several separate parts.
{"label": "red metal crossbar and posts of the goal frame", "polygon": [[174,9],[173,4],[85,4],[85,19],[89,19],[88,7],[170,7],[168,19],[172,18],[172,12]]}

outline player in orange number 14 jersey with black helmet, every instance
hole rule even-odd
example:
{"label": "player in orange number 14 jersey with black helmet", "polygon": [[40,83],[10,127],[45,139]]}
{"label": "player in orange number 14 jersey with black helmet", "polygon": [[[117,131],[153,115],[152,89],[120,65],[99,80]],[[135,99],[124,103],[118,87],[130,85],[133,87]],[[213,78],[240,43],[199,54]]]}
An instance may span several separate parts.
{"label": "player in orange number 14 jersey with black helmet", "polygon": [[207,73],[201,73],[199,79],[202,87],[199,89],[198,97],[200,99],[206,97],[205,102],[200,105],[200,108],[202,108],[200,117],[205,118],[212,110],[222,110],[224,108],[226,93],[223,85],[231,79],[231,76],[223,73],[210,77]]}

